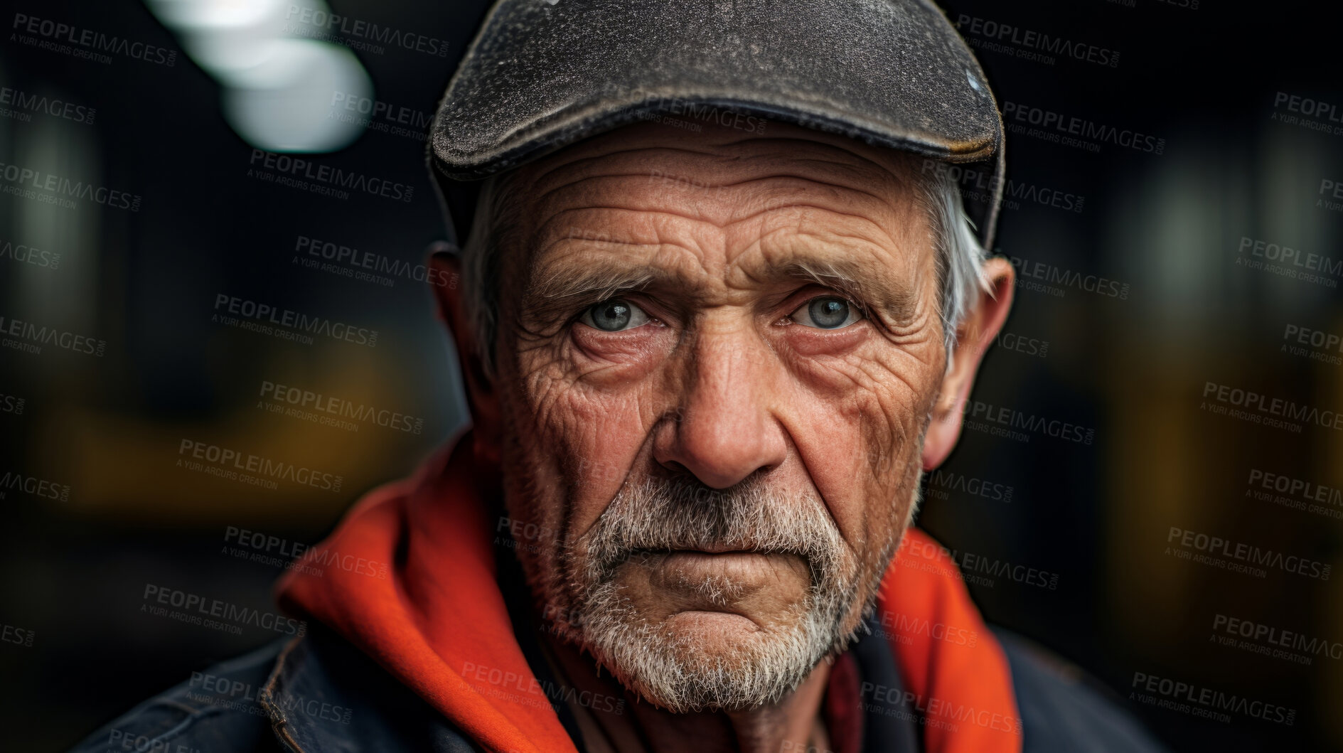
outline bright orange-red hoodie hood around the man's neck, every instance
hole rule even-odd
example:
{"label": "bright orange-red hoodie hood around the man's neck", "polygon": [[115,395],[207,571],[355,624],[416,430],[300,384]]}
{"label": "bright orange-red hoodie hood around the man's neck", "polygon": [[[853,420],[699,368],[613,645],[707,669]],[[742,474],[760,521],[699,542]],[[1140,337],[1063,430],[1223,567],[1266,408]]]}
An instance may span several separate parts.
{"label": "bright orange-red hoodie hood around the man's neck", "polygon": [[[486,750],[573,753],[496,583],[471,447],[467,434],[415,478],[369,493],[309,550],[324,570],[290,570],[279,600],[359,646]],[[1007,659],[955,562],[923,532],[905,534],[877,609],[915,697],[907,705],[924,715],[925,750],[1018,753]]]}

